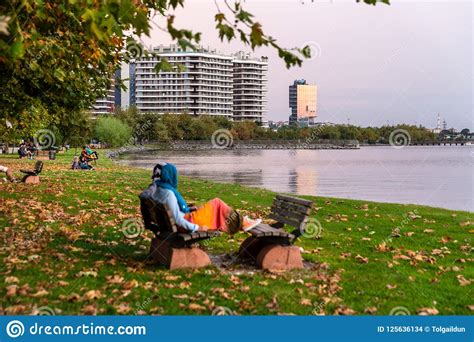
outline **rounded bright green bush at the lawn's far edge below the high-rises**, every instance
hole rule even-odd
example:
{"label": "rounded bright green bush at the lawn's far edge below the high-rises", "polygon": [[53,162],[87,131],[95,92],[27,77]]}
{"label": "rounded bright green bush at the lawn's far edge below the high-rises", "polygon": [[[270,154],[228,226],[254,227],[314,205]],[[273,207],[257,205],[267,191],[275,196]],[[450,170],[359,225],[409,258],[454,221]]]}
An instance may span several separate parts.
{"label": "rounded bright green bush at the lawn's far edge below the high-rises", "polygon": [[102,117],[97,119],[95,137],[111,147],[125,145],[132,137],[132,129],[116,118]]}

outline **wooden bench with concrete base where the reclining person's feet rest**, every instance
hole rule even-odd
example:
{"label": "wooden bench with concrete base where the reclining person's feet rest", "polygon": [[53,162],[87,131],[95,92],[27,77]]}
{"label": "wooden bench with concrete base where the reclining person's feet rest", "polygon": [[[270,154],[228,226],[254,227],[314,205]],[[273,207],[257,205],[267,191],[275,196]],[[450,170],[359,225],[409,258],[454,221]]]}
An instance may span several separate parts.
{"label": "wooden bench with concrete base where the reclining person's feet rest", "polygon": [[[276,222],[259,224],[240,246],[239,257],[252,259],[263,269],[303,268],[299,247],[293,245],[304,234],[312,202],[286,195],[277,195],[273,200],[270,219]],[[291,233],[283,230],[285,225],[296,228]]]}

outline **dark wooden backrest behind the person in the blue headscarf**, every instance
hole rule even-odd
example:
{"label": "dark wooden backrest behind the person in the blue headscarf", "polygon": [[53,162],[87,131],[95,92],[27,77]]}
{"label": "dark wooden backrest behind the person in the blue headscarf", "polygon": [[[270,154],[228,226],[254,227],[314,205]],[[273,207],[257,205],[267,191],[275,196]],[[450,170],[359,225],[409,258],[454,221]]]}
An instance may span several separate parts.
{"label": "dark wooden backrest behind the person in the blue headscarf", "polygon": [[153,201],[151,198],[140,197],[145,228],[157,234],[160,232],[178,232],[176,222],[166,205]]}

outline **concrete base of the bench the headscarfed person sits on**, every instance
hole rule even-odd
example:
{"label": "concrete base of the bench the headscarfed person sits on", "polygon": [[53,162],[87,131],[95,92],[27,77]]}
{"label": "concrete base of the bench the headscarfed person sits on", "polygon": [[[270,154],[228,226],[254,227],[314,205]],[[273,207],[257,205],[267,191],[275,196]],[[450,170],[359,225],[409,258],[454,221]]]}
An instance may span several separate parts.
{"label": "concrete base of the bench the headscarfed person sits on", "polygon": [[201,268],[211,264],[209,255],[198,247],[174,248],[167,241],[158,238],[151,240],[148,258],[170,270]]}

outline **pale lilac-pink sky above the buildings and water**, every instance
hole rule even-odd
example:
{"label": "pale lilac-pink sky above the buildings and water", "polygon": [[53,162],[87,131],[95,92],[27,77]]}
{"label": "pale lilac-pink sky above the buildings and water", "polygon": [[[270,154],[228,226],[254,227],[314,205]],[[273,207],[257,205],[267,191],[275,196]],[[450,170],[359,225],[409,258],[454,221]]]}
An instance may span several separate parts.
{"label": "pale lilac-pink sky above the buildings and water", "polygon": [[[271,48],[252,52],[238,40],[222,43],[212,0],[186,0],[175,22],[202,32],[203,46],[269,57],[268,120],[288,120],[288,86],[306,79],[318,86],[317,121],[434,128],[439,113],[448,127],[473,130],[471,1],[246,0],[243,8],[280,45],[310,45],[314,57],[288,70]],[[143,41],[171,42],[158,28]]]}

